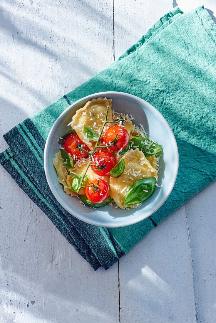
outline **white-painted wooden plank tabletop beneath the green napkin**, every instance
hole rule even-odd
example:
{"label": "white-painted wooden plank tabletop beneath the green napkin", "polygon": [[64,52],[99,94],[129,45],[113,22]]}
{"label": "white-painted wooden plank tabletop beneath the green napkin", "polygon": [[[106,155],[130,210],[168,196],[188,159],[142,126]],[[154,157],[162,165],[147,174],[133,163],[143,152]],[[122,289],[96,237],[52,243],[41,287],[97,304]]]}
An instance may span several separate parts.
{"label": "white-painted wooden plank tabletop beneath the green napkin", "polygon": [[[173,6],[203,2],[213,16],[214,0],[2,0],[1,135],[106,68]],[[216,322],[216,182],[94,272],[0,172],[0,322]]]}

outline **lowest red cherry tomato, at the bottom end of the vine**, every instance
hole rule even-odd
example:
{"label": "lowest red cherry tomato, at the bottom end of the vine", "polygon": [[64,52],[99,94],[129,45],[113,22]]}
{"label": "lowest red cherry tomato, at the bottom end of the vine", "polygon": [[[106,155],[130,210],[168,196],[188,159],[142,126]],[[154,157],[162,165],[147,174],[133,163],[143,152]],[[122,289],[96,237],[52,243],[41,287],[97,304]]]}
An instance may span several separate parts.
{"label": "lowest red cherry tomato, at the bottom end of the vine", "polygon": [[88,183],[88,186],[85,188],[85,195],[87,199],[92,203],[101,203],[107,199],[109,196],[109,186],[107,182],[101,178],[95,179]]}

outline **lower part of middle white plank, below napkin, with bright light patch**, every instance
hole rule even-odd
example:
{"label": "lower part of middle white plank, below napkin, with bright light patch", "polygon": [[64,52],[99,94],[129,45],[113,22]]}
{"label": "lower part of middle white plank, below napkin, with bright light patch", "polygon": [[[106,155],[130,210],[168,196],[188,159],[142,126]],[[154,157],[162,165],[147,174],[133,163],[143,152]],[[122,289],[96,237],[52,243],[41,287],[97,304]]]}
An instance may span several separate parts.
{"label": "lower part of middle white plank, below napkin, with bright light patch", "polygon": [[184,206],[120,259],[121,322],[196,322]]}

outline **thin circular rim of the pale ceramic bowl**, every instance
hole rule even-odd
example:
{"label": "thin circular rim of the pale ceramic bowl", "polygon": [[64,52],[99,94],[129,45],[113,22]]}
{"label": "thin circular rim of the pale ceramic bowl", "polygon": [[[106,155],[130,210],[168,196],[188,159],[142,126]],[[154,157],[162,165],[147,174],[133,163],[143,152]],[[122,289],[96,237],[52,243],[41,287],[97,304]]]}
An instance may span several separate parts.
{"label": "thin circular rim of the pale ceramic bowl", "polygon": [[[110,97],[112,99],[112,94],[115,94],[115,95],[119,95],[119,96],[124,96],[124,97],[127,97],[127,98],[131,98],[131,99],[136,99],[138,101],[140,101],[141,103],[145,103],[146,106],[148,106],[149,109],[153,110],[153,113],[159,117],[159,119],[162,118],[163,122],[166,124],[167,128],[170,130],[170,135],[171,137],[173,138],[173,141],[175,143],[173,149],[174,149],[174,154],[176,156],[176,163],[174,165],[174,168],[173,168],[173,178],[172,178],[172,181],[171,181],[171,185],[169,187],[169,190],[167,191],[166,195],[164,196],[164,198],[161,200],[160,203],[157,204],[157,207],[156,208],[153,208],[153,211],[150,211],[148,212],[147,214],[145,214],[145,216],[137,221],[136,217],[133,219],[130,220],[130,222],[126,223],[126,224],[122,224],[122,223],[118,223],[118,224],[110,224],[110,223],[100,223],[98,222],[97,220],[88,220],[88,218],[86,217],[82,217],[80,216],[80,214],[77,214],[76,211],[72,211],[70,210],[70,208],[67,207],[67,205],[64,204],[64,201],[62,203],[62,200],[61,198],[59,198],[58,194],[55,193],[54,189],[52,188],[52,183],[49,179],[49,175],[48,175],[48,156],[47,156],[47,151],[48,151],[48,143],[49,143],[49,139],[52,135],[52,131],[53,129],[55,128],[56,124],[59,122],[59,119],[62,119],[63,116],[72,108],[74,108],[75,106],[79,105],[82,101],[86,101],[88,102],[88,100],[91,100],[95,97]],[[78,218],[79,220],[85,222],[85,223],[88,223],[88,224],[92,224],[92,225],[96,225],[96,226],[103,226],[103,227],[107,227],[107,228],[117,228],[117,227],[123,227],[123,226],[128,226],[128,225],[132,225],[132,224],[135,224],[135,223],[139,223],[145,219],[147,219],[149,216],[151,216],[152,214],[154,214],[167,200],[167,198],[169,197],[170,193],[172,192],[173,190],[173,187],[175,185],[175,182],[176,182],[176,178],[177,178],[177,175],[178,175],[178,166],[179,166],[179,155],[178,155],[178,146],[177,146],[177,142],[176,142],[176,138],[174,136],[174,133],[172,131],[172,129],[170,128],[167,120],[164,118],[164,116],[154,107],[152,106],[150,103],[148,103],[147,101],[145,101],[144,99],[141,99],[133,94],[129,94],[129,93],[125,93],[125,92],[119,92],[119,91],[104,91],[104,92],[97,92],[97,93],[93,93],[93,94],[90,94],[90,95],[87,95],[77,101],[75,101],[74,103],[72,103],[68,108],[66,108],[60,115],[59,117],[56,119],[56,121],[54,122],[54,124],[52,125],[50,131],[49,131],[49,134],[48,134],[48,137],[47,137],[47,140],[46,140],[46,143],[45,143],[45,147],[44,147],[44,171],[45,171],[45,176],[46,176],[46,180],[48,182],[48,185],[49,185],[49,188],[52,192],[52,194],[54,195],[54,197],[57,199],[57,201],[59,202],[59,204],[67,211],[69,212],[72,216],[75,216],[76,218]]]}

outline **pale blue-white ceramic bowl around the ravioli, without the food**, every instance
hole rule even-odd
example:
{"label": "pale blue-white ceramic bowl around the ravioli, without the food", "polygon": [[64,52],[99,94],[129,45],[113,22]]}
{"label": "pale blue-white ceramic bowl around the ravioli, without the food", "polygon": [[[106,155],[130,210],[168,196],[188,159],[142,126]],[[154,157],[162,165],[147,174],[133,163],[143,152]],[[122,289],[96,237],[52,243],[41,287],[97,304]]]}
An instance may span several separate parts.
{"label": "pale blue-white ceramic bowl around the ravioli, without the food", "polygon": [[[77,197],[71,197],[63,192],[58,182],[56,170],[52,160],[59,151],[58,139],[67,130],[77,109],[85,105],[88,100],[98,97],[112,98],[112,108],[122,113],[130,113],[135,118],[134,123],[144,126],[147,136],[163,147],[160,158],[158,185],[154,194],[141,206],[126,210],[111,205],[103,208],[90,208],[80,203]],[[135,224],[156,212],[171,193],[178,173],[178,147],[174,134],[164,117],[151,104],[134,95],[123,92],[100,92],[78,100],[68,107],[52,126],[44,150],[44,169],[49,187],[58,202],[70,214],[78,219],[103,227],[121,227]]]}

